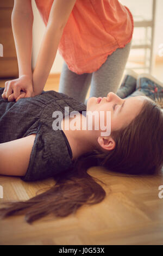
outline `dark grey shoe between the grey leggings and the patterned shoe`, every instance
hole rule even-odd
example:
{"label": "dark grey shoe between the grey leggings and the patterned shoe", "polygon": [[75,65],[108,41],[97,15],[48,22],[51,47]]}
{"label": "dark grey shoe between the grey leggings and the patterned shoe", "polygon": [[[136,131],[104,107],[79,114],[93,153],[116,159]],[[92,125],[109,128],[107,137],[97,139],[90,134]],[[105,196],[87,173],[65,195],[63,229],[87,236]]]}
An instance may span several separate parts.
{"label": "dark grey shoe between the grey leggings and the patterned shoe", "polygon": [[116,95],[121,97],[121,99],[126,98],[128,95],[133,93],[136,89],[136,80],[138,74],[131,69],[126,71],[126,75],[124,75],[122,84],[120,88],[118,88]]}

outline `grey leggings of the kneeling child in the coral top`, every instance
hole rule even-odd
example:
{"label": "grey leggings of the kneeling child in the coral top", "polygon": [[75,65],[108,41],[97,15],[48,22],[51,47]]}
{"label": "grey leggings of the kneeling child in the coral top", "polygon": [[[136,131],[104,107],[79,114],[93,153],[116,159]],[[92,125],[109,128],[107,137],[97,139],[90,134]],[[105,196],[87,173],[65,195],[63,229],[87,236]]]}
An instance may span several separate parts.
{"label": "grey leggings of the kneeling child in the coral top", "polygon": [[105,63],[93,73],[78,75],[68,69],[64,62],[62,67],[59,93],[67,94],[86,104],[85,100],[89,86],[89,97],[104,97],[109,92],[116,93],[127,63],[131,42],[124,48],[117,48],[108,56]]}

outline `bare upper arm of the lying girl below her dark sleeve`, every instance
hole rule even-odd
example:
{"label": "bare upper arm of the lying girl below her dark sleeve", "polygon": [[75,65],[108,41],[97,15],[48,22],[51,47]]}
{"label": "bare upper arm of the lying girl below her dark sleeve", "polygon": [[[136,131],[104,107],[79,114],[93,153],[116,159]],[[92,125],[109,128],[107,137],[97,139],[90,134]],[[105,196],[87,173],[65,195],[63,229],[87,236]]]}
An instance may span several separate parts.
{"label": "bare upper arm of the lying girl below her dark sleeve", "polygon": [[24,176],[36,135],[0,144],[0,175]]}

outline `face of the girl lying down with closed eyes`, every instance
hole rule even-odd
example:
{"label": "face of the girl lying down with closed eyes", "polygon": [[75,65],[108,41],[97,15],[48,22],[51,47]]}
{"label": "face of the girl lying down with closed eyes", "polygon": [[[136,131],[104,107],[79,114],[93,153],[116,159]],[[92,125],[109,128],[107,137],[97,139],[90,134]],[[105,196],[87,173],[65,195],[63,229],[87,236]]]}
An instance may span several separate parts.
{"label": "face of the girl lying down with closed eyes", "polygon": [[[104,111],[103,124],[106,123],[106,111],[110,111],[111,116],[111,131],[126,127],[131,120],[133,120],[137,114],[141,111],[143,102],[147,100],[146,96],[133,96],[128,99],[121,99],[115,93],[108,93],[106,97],[103,97],[101,101],[97,97],[91,97],[87,100],[86,111],[97,111],[100,117],[100,112]],[[102,116],[101,116],[102,117]],[[100,118],[99,118],[99,131],[100,130]],[[99,132],[98,131],[98,132]],[[104,132],[102,130],[102,132]]]}

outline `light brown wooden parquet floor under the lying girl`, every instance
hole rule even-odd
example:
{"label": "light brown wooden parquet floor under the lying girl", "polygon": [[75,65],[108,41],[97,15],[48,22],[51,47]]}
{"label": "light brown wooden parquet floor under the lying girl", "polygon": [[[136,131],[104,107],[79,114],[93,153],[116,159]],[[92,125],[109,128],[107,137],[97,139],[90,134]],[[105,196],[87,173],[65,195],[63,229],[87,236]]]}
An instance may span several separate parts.
{"label": "light brown wooden parquet floor under the lying girl", "polygon": [[[0,87],[4,81],[1,80]],[[45,90],[58,91],[59,76],[49,77]],[[92,167],[89,174],[104,181],[107,197],[102,203],[83,206],[65,218],[48,216],[29,225],[24,216],[0,221],[1,245],[162,245],[162,176],[127,176]],[[0,176],[3,200],[27,200],[53,179],[23,182],[14,176]]]}

